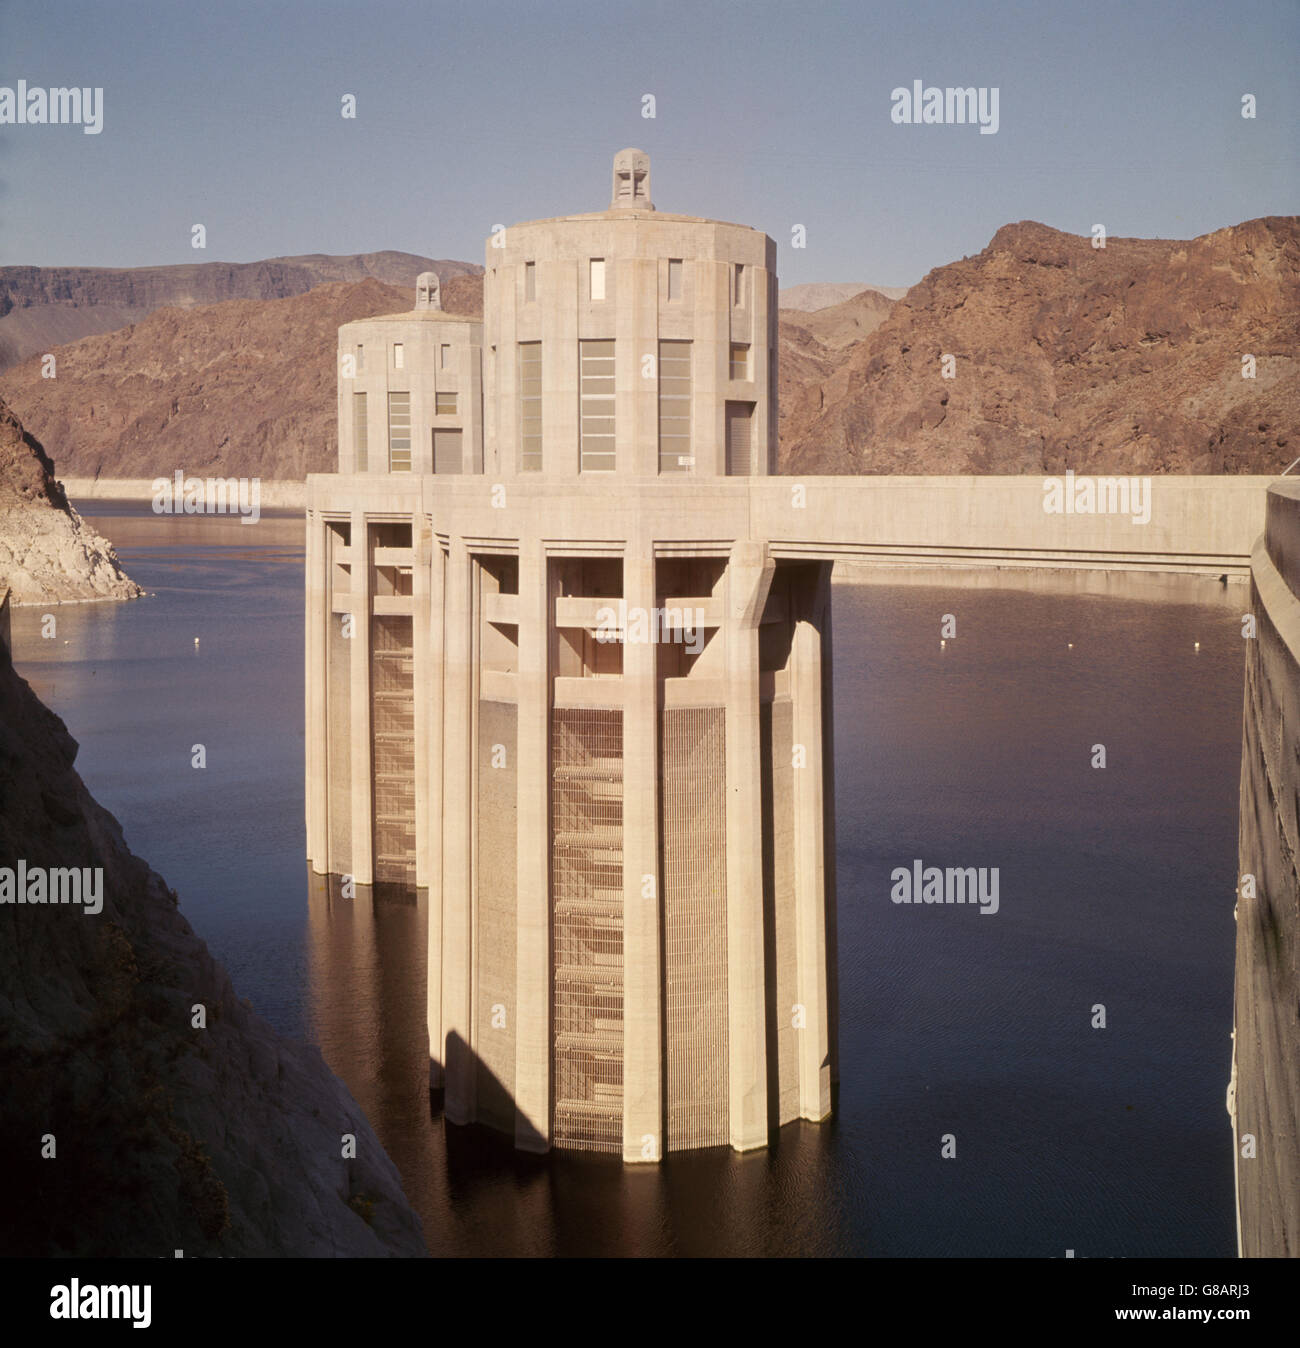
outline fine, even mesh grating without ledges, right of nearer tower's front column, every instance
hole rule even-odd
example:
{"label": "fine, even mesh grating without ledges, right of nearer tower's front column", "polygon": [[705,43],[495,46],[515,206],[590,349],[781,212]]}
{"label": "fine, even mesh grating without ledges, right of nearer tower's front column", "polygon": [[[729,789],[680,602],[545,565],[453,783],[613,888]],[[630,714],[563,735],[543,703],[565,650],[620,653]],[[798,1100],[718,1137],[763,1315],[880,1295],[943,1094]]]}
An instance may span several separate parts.
{"label": "fine, even mesh grating without ledges, right of nearer tower's front column", "polygon": [[665,709],[661,810],[670,1151],[731,1140],[726,791],[726,712]]}

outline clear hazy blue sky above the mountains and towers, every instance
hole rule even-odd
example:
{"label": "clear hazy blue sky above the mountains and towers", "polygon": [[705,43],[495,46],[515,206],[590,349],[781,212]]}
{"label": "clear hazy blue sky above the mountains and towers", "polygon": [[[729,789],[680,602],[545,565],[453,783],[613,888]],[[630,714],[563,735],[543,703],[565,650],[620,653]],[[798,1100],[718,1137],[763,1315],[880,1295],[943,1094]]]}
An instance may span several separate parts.
{"label": "clear hazy blue sky above the mountains and towers", "polygon": [[[910,284],[1014,220],[1296,213],[1297,67],[1300,0],[0,0],[0,85],[105,90],[98,136],[0,127],[0,263],[481,262],[639,146],[661,210],[765,229],[782,284]],[[998,133],[895,125],[913,80],[997,86]]]}

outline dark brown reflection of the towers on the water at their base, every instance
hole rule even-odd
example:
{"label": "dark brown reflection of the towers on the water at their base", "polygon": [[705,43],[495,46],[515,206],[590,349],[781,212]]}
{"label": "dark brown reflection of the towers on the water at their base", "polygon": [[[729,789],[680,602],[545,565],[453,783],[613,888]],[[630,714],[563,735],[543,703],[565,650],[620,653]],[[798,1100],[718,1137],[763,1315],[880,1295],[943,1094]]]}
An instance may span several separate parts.
{"label": "dark brown reflection of the towers on the water at their base", "polygon": [[[429,1088],[423,891],[359,886],[344,898],[337,876],[313,874],[307,888],[312,1037],[401,1170],[432,1254],[793,1255],[850,1244],[833,1123],[792,1124],[766,1153],[717,1147],[645,1167],[529,1155],[491,1128],[449,1124]],[[413,1108],[419,1099],[427,1111]]]}

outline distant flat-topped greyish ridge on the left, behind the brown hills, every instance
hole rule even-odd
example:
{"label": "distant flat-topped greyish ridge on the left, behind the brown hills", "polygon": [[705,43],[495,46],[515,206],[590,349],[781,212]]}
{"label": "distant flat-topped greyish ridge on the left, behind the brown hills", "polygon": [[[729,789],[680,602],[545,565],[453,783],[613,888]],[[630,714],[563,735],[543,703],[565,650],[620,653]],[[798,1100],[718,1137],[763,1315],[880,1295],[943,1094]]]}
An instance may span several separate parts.
{"label": "distant flat-topped greyish ridge on the left, behind the brown hills", "polygon": [[179,267],[0,267],[0,371],[78,337],[139,322],[156,309],[285,299],[330,280],[374,279],[410,290],[422,271],[436,271],[446,284],[481,270],[403,252],[306,253]]}

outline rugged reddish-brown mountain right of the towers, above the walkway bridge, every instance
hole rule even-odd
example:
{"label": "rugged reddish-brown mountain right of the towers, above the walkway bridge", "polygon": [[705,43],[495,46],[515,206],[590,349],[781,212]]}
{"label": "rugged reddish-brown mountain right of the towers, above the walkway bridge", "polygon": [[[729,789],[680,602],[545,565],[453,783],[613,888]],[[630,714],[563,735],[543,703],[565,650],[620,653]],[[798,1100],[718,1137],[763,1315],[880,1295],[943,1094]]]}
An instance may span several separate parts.
{"label": "rugged reddish-brown mountain right of the towers, above the walkway bridge", "polygon": [[833,368],[817,368],[813,348],[792,361],[781,462],[798,473],[1281,472],[1300,454],[1297,350],[1297,217],[1104,248],[1006,225],[913,286]]}

